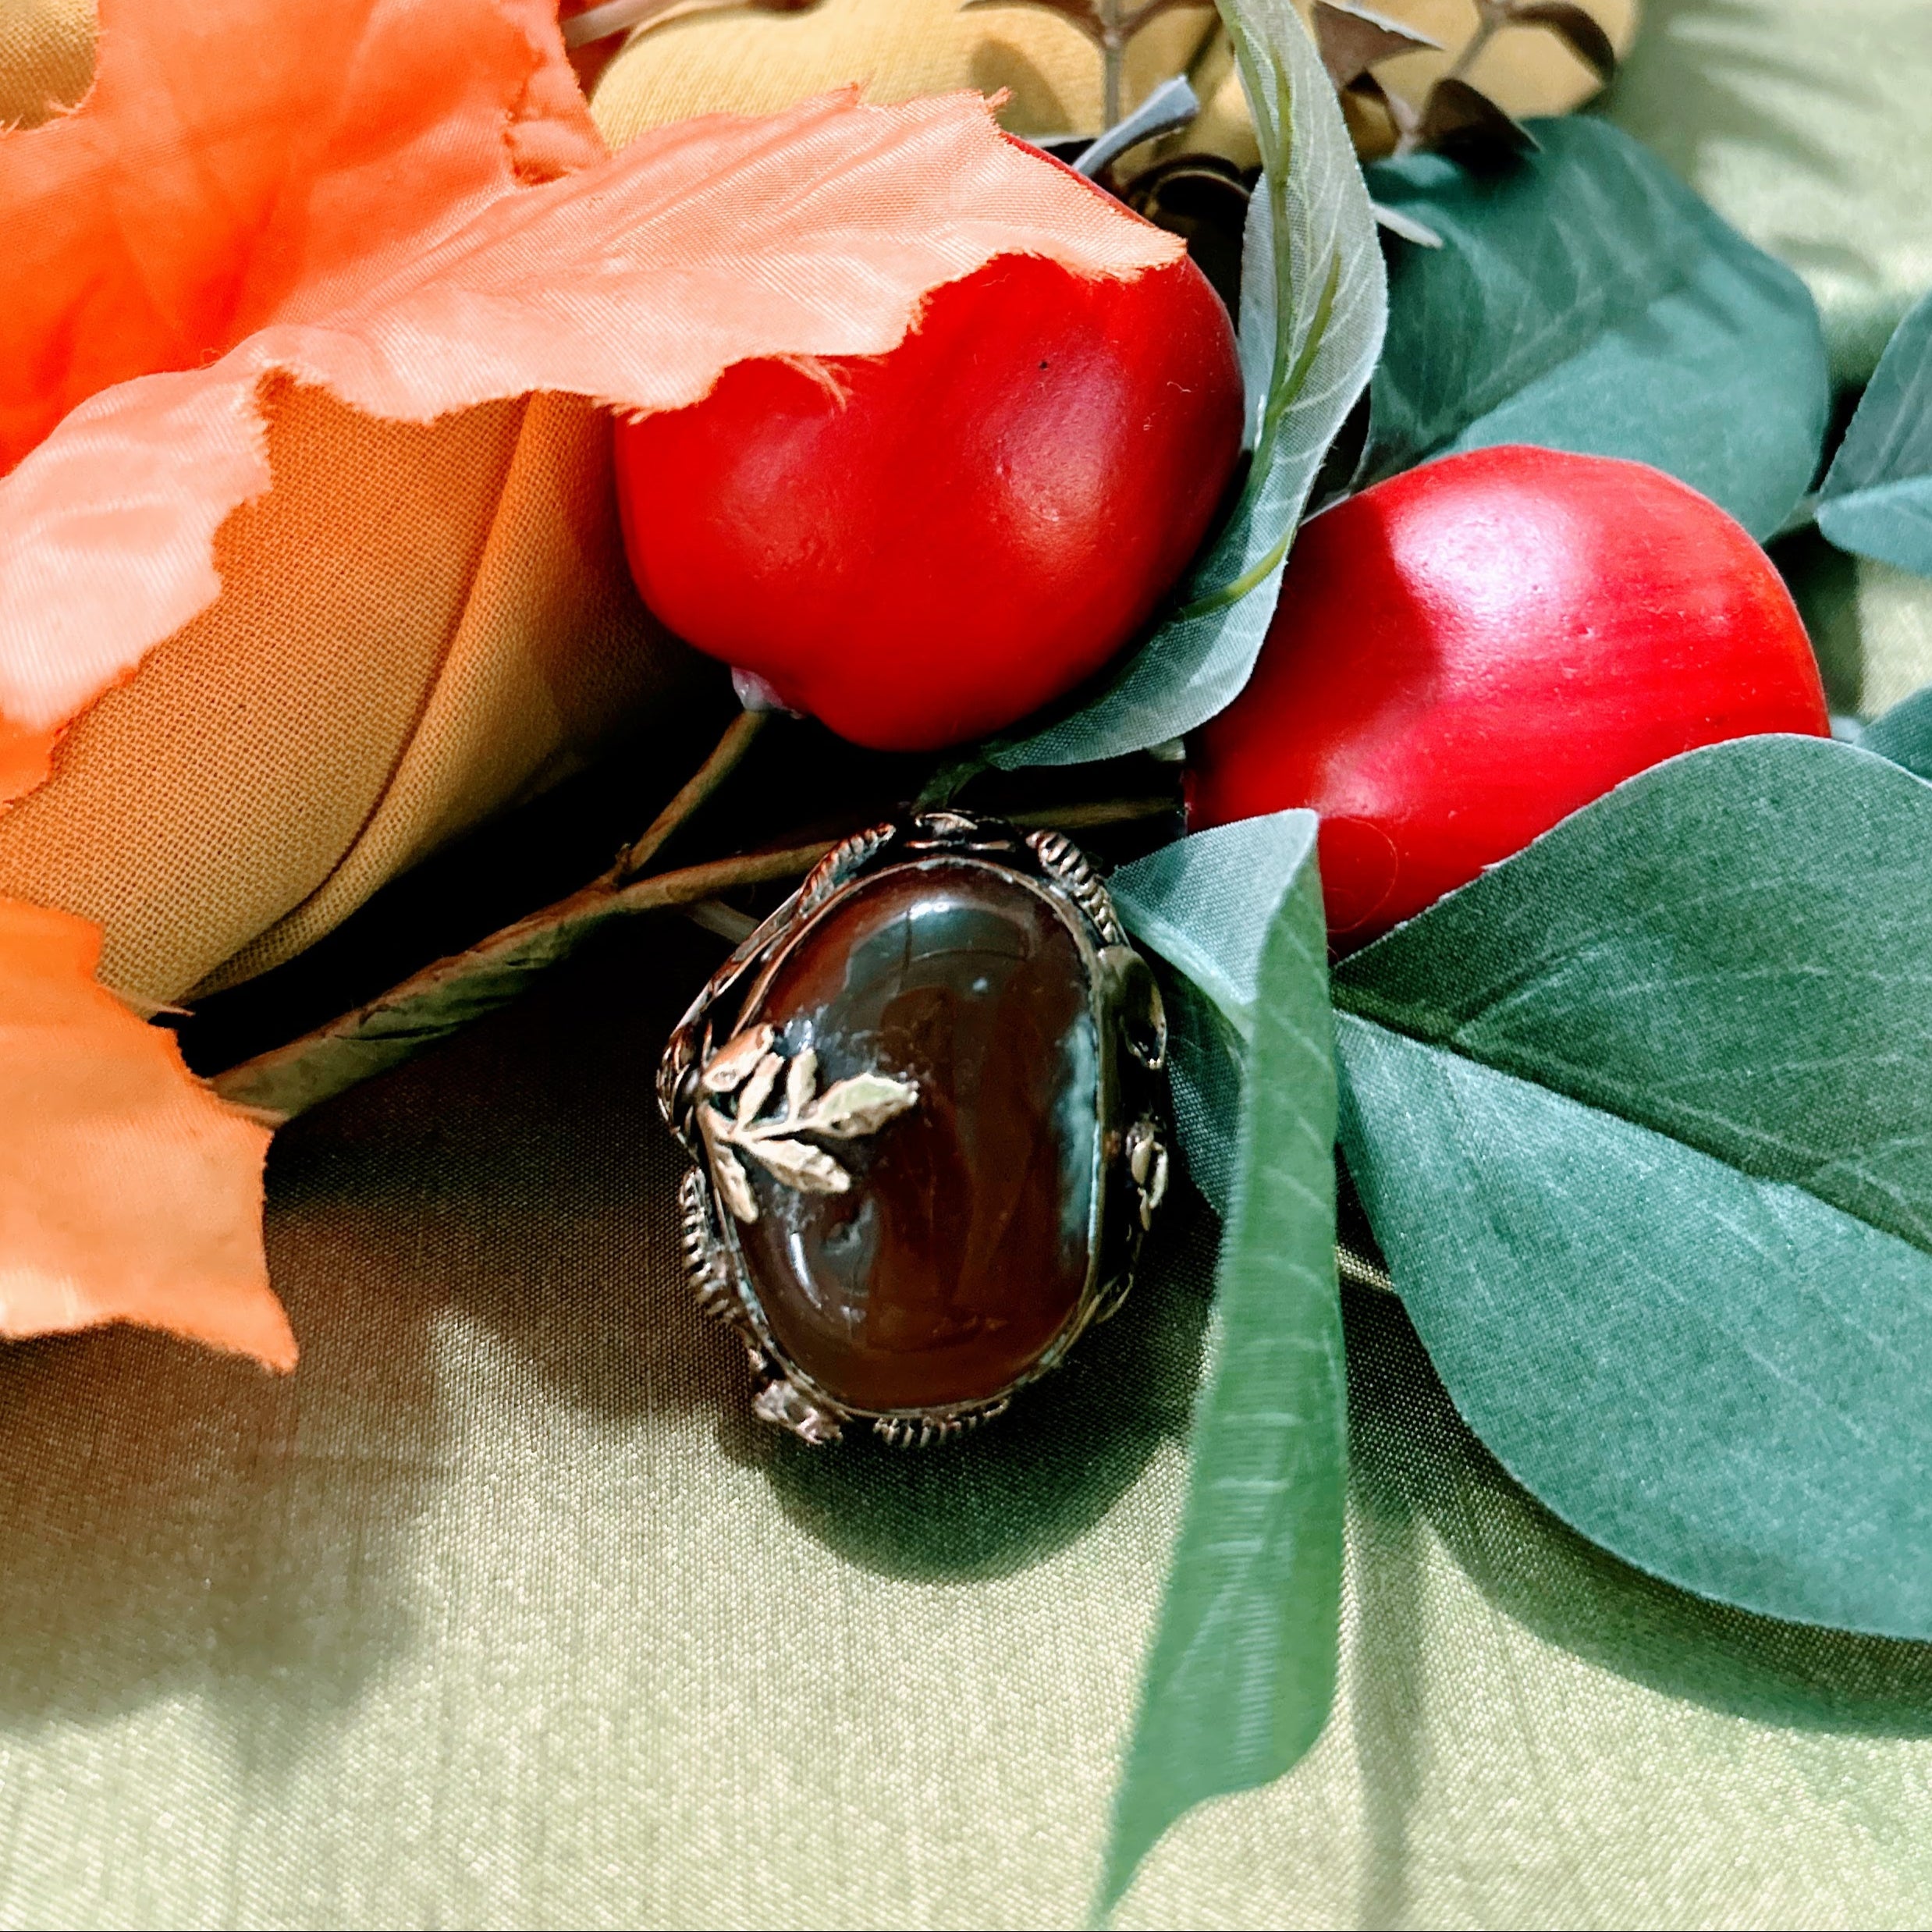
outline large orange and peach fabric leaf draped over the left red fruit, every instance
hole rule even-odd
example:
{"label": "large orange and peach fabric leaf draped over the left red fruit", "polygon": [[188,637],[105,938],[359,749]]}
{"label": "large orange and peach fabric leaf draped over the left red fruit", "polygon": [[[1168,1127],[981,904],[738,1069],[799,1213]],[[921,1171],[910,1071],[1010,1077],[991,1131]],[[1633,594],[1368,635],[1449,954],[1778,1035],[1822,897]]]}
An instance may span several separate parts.
{"label": "large orange and peach fabric leaf draped over the left red fruit", "polygon": [[0,800],[35,734],[218,597],[276,371],[400,421],[531,390],[674,408],[744,357],[881,354],[999,253],[1180,251],[968,95],[593,158],[554,0],[100,14],[87,100],[0,133]]}

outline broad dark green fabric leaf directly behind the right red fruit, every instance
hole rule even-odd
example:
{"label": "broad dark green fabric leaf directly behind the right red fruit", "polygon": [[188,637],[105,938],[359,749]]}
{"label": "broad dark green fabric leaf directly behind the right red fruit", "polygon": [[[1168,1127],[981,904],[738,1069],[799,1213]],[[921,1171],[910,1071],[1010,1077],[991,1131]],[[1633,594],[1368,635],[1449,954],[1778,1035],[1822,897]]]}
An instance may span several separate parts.
{"label": "broad dark green fabric leaf directly behind the right red fruit", "polygon": [[1368,170],[1445,245],[1395,245],[1364,475],[1497,442],[1627,456],[1770,535],[1830,404],[1804,284],[1615,128],[1534,131],[1499,174],[1439,155]]}

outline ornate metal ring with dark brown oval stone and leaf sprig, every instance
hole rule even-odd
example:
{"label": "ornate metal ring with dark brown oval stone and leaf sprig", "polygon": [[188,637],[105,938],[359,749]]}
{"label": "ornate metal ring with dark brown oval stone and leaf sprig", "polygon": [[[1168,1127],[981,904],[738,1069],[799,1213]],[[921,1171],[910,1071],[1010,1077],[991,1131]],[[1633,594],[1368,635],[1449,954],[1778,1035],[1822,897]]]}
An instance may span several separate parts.
{"label": "ornate metal ring with dark brown oval stone and leaf sprig", "polygon": [[686,1265],[755,1414],[923,1447],[1065,1360],[1167,1192],[1165,1066],[1153,974],[1061,833],[927,811],[835,846],[659,1066]]}

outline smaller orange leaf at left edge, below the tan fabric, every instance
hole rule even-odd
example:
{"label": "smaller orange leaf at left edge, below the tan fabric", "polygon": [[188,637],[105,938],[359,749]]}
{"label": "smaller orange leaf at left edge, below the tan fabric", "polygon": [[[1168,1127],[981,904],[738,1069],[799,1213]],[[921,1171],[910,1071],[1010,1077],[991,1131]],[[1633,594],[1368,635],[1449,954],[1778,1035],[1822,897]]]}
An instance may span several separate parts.
{"label": "smaller orange leaf at left edge, below the tan fabric", "polygon": [[95,983],[100,927],[0,898],[0,1335],[139,1321],[269,1368],[269,1128]]}

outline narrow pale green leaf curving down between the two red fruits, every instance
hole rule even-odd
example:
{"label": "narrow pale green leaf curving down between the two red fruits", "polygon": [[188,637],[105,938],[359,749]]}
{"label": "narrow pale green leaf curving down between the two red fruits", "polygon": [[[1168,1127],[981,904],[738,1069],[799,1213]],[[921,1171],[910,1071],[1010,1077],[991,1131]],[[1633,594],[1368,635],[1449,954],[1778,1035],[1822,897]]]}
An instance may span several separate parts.
{"label": "narrow pale green leaf curving down between the two red fruits", "polygon": [[[1387,313],[1354,145],[1289,0],[1217,0],[1262,149],[1240,280],[1252,466],[1180,609],[1070,717],[989,750],[995,765],[1078,765],[1194,730],[1248,682],[1296,520],[1368,384]],[[1285,238],[1285,245],[1279,245]]]}

